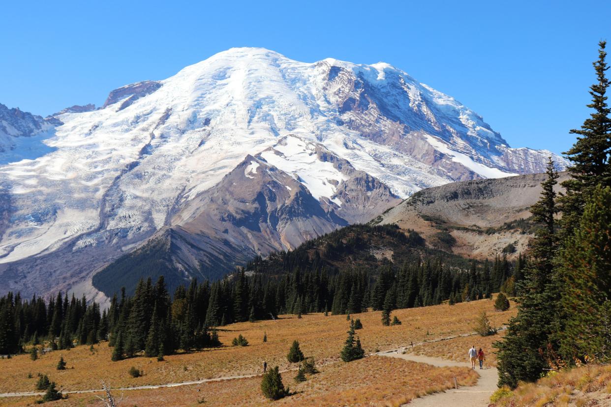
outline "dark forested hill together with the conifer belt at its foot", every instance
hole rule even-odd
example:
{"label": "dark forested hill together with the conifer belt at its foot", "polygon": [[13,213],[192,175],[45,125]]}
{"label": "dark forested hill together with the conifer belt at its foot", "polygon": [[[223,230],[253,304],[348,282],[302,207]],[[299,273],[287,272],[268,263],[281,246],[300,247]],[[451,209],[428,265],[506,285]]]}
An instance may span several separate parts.
{"label": "dark forested hill together with the conifer belt at its foot", "polygon": [[[380,253],[384,253],[383,255]],[[391,261],[392,259],[392,261]],[[49,339],[54,346],[109,339],[115,359],[139,350],[149,356],[218,344],[214,326],[307,312],[352,314],[488,298],[513,290],[521,262],[466,261],[427,249],[413,231],[354,225],[310,240],[296,250],[257,258],[219,281],[178,286],[170,297],[163,275],[141,279],[133,296],[114,294],[100,313],[86,298],[45,301],[0,298],[0,353]]]}

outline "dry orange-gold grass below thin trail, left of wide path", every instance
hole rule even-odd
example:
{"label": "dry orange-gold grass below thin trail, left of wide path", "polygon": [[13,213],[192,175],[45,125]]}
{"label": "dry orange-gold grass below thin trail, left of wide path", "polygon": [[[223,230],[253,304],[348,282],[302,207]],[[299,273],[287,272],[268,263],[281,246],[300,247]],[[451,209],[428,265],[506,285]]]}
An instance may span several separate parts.
{"label": "dry orange-gold grass below thin trail, left of wide path", "polygon": [[[349,363],[329,364],[307,381],[295,385],[295,372],[282,374],[285,385],[295,394],[275,402],[281,406],[367,405],[398,406],[412,398],[443,391],[453,386],[453,378],[459,384],[469,386],[477,381],[477,373],[468,368],[441,368],[402,359],[370,356]],[[198,402],[214,406],[269,405],[260,391],[259,377],[210,382],[192,386],[123,392],[123,405],[144,406],[193,406]],[[120,391],[114,392],[117,397]],[[0,406],[27,405],[35,398],[0,400]],[[102,406],[93,394],[74,394],[67,400],[46,404],[48,406]]]}

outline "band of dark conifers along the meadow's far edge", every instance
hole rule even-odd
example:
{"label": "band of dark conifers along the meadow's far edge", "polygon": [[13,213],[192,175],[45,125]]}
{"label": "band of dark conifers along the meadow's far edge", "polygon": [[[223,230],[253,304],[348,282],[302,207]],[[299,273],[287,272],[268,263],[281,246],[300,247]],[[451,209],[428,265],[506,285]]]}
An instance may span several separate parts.
{"label": "band of dark conifers along the meadow's far edge", "polygon": [[[516,267],[517,266],[517,267]],[[272,265],[272,267],[275,267]],[[447,267],[442,258],[390,262],[375,270],[327,270],[326,265],[273,274],[262,264],[226,278],[188,287],[172,297],[164,277],[155,284],[141,279],[134,295],[114,295],[108,309],[95,303],[57,294],[23,300],[9,293],[0,298],[0,354],[18,353],[26,344],[48,340],[52,348],[95,344],[109,340],[112,358],[169,355],[220,345],[216,326],[273,319],[279,314],[332,312],[355,314],[374,310],[412,308],[489,298],[508,281],[519,278],[519,264],[507,258],[472,262],[468,270]]]}

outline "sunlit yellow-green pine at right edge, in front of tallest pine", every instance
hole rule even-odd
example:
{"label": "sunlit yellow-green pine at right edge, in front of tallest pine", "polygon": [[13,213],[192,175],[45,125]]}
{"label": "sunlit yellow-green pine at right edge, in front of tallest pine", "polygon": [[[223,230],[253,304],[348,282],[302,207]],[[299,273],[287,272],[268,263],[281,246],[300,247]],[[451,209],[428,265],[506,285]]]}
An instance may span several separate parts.
{"label": "sunlit yellow-green pine at right edge, in front of tallest pine", "polygon": [[563,251],[562,353],[611,360],[611,188],[599,185]]}

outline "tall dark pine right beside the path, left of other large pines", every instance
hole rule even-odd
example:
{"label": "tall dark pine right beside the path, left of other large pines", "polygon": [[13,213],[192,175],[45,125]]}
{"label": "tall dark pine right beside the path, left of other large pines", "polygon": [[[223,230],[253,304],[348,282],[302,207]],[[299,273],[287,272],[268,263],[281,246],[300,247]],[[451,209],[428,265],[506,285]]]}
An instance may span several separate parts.
{"label": "tall dark pine right beside the path, left of other large pines", "polygon": [[541,186],[541,197],[531,208],[535,222],[542,228],[530,242],[530,258],[519,285],[521,297],[518,315],[511,319],[505,340],[496,342],[499,386],[516,387],[519,381],[535,381],[557,351],[554,334],[558,331],[558,276],[554,271],[557,250],[555,234],[554,185],[558,174],[551,159],[547,164],[547,179]]}

